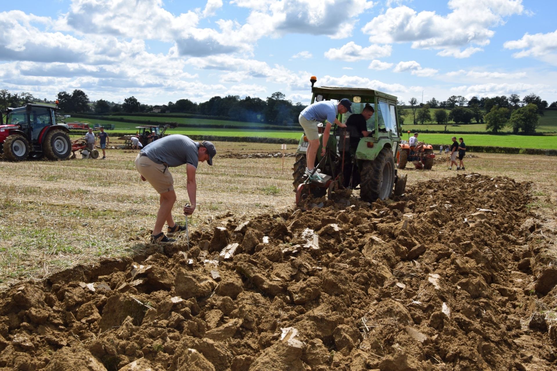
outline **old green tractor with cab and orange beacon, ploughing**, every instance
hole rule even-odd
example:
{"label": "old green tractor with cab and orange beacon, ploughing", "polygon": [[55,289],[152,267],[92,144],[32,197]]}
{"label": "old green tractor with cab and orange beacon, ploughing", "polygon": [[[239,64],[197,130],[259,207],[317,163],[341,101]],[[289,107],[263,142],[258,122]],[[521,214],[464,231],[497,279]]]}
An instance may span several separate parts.
{"label": "old green tractor with cab and orange beacon, ploughing", "polygon": [[[397,175],[394,161],[402,130],[398,122],[397,97],[365,88],[314,87],[316,78],[312,77],[310,81],[311,103],[343,98],[352,102],[353,113],[337,116],[342,123],[346,123],[350,115],[361,113],[366,105],[372,106],[375,112],[366,122],[368,136],[363,136],[352,126],[340,128],[333,125],[324,156],[321,156],[323,136],[320,135],[315,166],[326,175],[322,181],[310,181],[305,175],[308,141],[302,135],[292,174],[296,205],[309,194],[315,197],[328,194],[331,198],[331,193],[338,189],[359,189],[361,199],[367,202],[385,200],[393,192],[402,195],[407,176]],[[319,129],[321,133],[324,127]]]}

